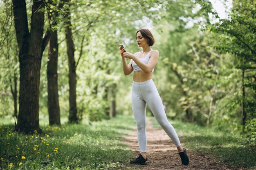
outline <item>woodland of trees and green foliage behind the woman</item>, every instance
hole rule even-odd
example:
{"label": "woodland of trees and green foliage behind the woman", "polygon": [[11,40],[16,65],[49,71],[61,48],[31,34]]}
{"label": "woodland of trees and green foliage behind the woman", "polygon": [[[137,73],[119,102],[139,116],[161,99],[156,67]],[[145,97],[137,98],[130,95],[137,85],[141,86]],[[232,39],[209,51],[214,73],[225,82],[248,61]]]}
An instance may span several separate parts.
{"label": "woodland of trees and green foliage behind the woman", "polygon": [[16,131],[132,115],[119,44],[139,51],[148,28],[169,119],[255,144],[255,0],[233,0],[226,19],[208,0],[1,0],[0,23],[0,118]]}

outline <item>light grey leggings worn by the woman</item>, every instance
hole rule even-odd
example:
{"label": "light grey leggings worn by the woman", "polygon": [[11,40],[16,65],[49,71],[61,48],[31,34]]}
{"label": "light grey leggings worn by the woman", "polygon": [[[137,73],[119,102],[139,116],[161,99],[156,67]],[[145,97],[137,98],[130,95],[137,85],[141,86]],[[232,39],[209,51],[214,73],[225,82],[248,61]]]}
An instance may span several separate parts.
{"label": "light grey leggings worn by the woman", "polygon": [[172,139],[174,144],[181,146],[179,137],[167,120],[162,104],[162,99],[159,96],[157,88],[152,79],[145,82],[132,83],[132,112],[137,124],[137,137],[139,143],[139,151],[146,152],[146,104],[152,111],[157,122],[162,126],[167,135]]}

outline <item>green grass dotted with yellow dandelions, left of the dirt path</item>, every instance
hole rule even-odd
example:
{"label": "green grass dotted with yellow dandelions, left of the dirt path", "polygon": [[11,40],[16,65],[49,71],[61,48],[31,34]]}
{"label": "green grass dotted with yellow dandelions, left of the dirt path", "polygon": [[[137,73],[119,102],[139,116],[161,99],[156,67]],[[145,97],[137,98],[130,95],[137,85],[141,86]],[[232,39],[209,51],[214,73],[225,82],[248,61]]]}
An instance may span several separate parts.
{"label": "green grass dotted with yellow dandelions, left of the dirt path", "polygon": [[0,127],[0,169],[112,170],[127,165],[133,157],[132,150],[121,142],[136,127],[132,117],[90,125],[41,126],[43,134],[37,135],[19,135],[13,132],[13,125]]}

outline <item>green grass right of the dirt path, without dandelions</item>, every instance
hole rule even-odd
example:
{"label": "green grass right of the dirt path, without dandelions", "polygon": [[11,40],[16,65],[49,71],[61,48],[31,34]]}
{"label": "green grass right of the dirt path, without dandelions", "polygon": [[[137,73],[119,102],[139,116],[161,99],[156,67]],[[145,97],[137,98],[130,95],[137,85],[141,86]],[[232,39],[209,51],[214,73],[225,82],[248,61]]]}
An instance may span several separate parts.
{"label": "green grass right of the dirt path, without dandelions", "polygon": [[[161,128],[152,118],[155,127]],[[196,124],[171,121],[182,144],[225,162],[229,168],[256,169],[256,146],[250,146],[242,135],[222,132]]]}

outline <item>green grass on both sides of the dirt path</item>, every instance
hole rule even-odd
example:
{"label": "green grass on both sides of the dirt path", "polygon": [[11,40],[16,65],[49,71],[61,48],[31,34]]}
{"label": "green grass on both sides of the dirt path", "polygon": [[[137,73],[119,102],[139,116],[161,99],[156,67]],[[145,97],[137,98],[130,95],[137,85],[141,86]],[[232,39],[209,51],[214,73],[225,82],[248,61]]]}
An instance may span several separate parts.
{"label": "green grass on both sides of the dirt path", "polygon": [[[210,155],[231,169],[256,169],[256,147],[241,135],[177,120],[171,124],[182,144],[193,152]],[[118,116],[91,124],[43,125],[43,134],[19,135],[13,125],[0,122],[0,169],[126,169],[133,152],[121,139],[135,127],[132,116]]]}

